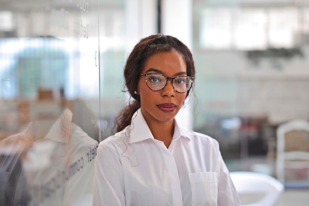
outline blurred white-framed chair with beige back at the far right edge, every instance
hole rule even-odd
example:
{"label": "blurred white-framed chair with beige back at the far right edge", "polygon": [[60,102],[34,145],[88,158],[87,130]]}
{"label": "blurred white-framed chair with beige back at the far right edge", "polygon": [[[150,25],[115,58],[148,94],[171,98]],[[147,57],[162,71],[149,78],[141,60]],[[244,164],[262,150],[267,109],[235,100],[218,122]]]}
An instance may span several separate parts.
{"label": "blurred white-framed chair with beige back at the far right edge", "polygon": [[[281,124],[276,130],[276,135],[278,180],[285,185],[294,181],[296,184],[299,182],[299,185],[307,182],[309,186],[309,122],[292,120]],[[287,171],[290,171],[290,175],[287,175]],[[302,175],[295,177],[293,172],[297,174],[297,171]]]}

